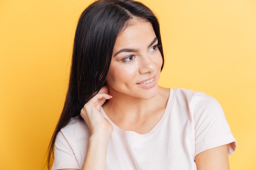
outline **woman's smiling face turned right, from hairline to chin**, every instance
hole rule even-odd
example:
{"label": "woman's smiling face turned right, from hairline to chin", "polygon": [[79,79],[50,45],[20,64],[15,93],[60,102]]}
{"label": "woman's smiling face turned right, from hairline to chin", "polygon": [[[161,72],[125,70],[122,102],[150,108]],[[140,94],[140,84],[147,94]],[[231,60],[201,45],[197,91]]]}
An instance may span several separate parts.
{"label": "woman's smiling face turned right, from hairline to chin", "polygon": [[117,36],[106,82],[110,95],[150,99],[157,94],[162,55],[152,24],[129,22]]}

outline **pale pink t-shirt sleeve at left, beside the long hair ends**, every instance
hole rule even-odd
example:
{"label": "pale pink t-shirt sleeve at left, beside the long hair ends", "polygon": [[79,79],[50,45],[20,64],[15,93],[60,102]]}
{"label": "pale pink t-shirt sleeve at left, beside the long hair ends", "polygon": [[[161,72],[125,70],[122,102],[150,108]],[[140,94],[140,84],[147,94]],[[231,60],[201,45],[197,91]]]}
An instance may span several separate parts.
{"label": "pale pink t-shirt sleeve at left, beside the long hair ends", "polygon": [[[68,141],[69,137],[61,130],[56,136],[54,143],[54,162],[52,170],[73,168],[80,169],[72,149],[72,141]],[[74,138],[71,138],[74,139]]]}

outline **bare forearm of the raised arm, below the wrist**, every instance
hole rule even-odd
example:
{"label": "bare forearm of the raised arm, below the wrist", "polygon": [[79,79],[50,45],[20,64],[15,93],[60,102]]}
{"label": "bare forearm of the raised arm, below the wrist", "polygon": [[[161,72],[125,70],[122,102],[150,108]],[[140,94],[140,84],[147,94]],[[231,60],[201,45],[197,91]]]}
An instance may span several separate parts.
{"label": "bare forearm of the raised arm, below the wrist", "polygon": [[87,154],[82,170],[105,170],[110,134],[101,132],[90,136]]}

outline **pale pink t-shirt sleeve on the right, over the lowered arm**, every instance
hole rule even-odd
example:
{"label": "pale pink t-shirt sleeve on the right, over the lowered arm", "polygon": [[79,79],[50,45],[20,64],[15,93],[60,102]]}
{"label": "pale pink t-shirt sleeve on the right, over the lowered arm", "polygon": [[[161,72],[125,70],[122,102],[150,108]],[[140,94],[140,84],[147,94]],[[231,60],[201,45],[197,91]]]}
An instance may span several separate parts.
{"label": "pale pink t-shirt sleeve on the right, over the lowered arm", "polygon": [[236,139],[216,99],[197,93],[191,103],[191,112],[195,126],[195,155],[226,144],[229,155],[235,151]]}

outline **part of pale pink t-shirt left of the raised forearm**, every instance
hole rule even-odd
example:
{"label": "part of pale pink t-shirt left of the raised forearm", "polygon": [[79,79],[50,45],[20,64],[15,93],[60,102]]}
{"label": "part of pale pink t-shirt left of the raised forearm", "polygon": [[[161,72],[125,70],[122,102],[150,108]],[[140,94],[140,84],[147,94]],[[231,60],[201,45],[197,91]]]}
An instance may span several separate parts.
{"label": "part of pale pink t-shirt left of the raised forearm", "polygon": [[56,136],[52,169],[81,169],[88,146],[90,130],[83,119],[73,117]]}

